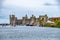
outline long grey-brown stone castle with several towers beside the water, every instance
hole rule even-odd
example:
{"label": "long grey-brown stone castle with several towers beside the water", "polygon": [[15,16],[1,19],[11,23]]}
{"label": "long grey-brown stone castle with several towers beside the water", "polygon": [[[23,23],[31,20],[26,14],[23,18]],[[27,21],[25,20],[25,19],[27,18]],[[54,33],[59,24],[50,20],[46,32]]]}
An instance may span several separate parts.
{"label": "long grey-brown stone castle with several towers beside the water", "polygon": [[39,18],[36,18],[34,15],[32,15],[32,17],[28,18],[28,16],[26,15],[25,17],[22,17],[22,19],[18,19],[17,17],[15,17],[15,15],[10,15],[10,25],[12,26],[26,24],[37,26],[40,25],[39,20],[43,20],[44,25],[44,23],[48,20],[48,16],[40,15]]}

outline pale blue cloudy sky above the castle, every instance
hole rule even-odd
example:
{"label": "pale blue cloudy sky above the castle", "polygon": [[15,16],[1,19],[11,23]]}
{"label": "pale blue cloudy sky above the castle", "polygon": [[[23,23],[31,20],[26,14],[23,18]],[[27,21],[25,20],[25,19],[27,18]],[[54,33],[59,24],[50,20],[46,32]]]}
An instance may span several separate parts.
{"label": "pale blue cloudy sky above the castle", "polygon": [[8,19],[9,15],[22,18],[47,14],[48,17],[60,16],[60,0],[0,0],[0,20]]}

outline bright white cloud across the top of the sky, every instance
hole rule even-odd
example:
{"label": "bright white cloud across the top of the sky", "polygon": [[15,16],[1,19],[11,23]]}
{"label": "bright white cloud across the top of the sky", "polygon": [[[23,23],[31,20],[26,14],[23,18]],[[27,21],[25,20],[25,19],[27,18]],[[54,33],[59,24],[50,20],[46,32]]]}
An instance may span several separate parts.
{"label": "bright white cloud across the top of the sky", "polygon": [[4,5],[14,5],[25,8],[41,8],[44,3],[54,3],[54,0],[6,0]]}

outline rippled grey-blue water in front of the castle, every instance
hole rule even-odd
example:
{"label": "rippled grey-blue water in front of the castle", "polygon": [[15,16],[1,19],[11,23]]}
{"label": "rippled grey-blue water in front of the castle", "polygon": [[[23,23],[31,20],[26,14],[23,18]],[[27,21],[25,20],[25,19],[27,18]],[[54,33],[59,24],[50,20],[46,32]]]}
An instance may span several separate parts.
{"label": "rippled grey-blue water in front of the castle", "polygon": [[60,28],[4,26],[0,27],[0,40],[60,40]]}

